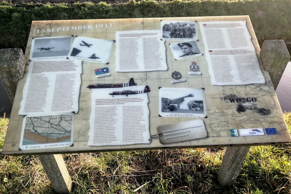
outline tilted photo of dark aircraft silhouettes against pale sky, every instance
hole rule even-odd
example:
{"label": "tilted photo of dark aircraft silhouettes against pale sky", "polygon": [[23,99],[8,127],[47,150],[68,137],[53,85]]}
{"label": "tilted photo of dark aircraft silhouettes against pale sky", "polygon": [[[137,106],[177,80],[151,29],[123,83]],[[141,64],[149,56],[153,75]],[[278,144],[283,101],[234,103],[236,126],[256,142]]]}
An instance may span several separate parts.
{"label": "tilted photo of dark aircraft silhouettes against pale sky", "polygon": [[68,58],[95,63],[108,63],[113,44],[112,40],[77,36]]}

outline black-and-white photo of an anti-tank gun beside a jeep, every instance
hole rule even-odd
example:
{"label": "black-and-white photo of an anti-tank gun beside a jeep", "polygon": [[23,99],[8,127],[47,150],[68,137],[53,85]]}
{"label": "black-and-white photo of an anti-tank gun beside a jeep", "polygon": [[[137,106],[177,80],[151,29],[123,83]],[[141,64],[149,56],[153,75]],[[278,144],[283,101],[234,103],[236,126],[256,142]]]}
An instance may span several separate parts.
{"label": "black-and-white photo of an anti-tank gun beside a jeep", "polygon": [[204,118],[205,106],[203,88],[159,89],[159,115],[162,117]]}

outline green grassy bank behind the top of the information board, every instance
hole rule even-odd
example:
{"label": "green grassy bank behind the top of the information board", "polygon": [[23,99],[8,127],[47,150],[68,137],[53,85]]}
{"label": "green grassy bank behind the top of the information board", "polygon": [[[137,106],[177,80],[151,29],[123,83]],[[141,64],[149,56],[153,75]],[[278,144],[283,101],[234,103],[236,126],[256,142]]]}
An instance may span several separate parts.
{"label": "green grassy bank behind the top of the information board", "polygon": [[0,2],[0,48],[25,50],[32,20],[249,15],[261,45],[291,41],[290,0],[139,1],[14,5]]}

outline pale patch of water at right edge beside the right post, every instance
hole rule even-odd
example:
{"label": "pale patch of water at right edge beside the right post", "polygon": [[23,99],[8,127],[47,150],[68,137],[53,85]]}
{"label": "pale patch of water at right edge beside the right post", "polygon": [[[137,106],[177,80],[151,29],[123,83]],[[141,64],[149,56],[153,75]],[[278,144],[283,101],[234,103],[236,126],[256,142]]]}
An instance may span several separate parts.
{"label": "pale patch of water at right edge beside the right post", "polygon": [[282,111],[291,112],[291,62],[288,63],[276,89]]}

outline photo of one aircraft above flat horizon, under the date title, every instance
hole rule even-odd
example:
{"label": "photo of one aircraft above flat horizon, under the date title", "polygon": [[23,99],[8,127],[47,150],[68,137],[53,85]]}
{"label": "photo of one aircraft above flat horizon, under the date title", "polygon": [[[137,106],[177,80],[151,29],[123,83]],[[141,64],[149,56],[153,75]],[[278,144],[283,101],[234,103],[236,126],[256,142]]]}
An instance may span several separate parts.
{"label": "photo of one aircraft above flat horizon, under the date title", "polygon": [[31,44],[30,60],[67,58],[72,42],[72,36],[34,38]]}

